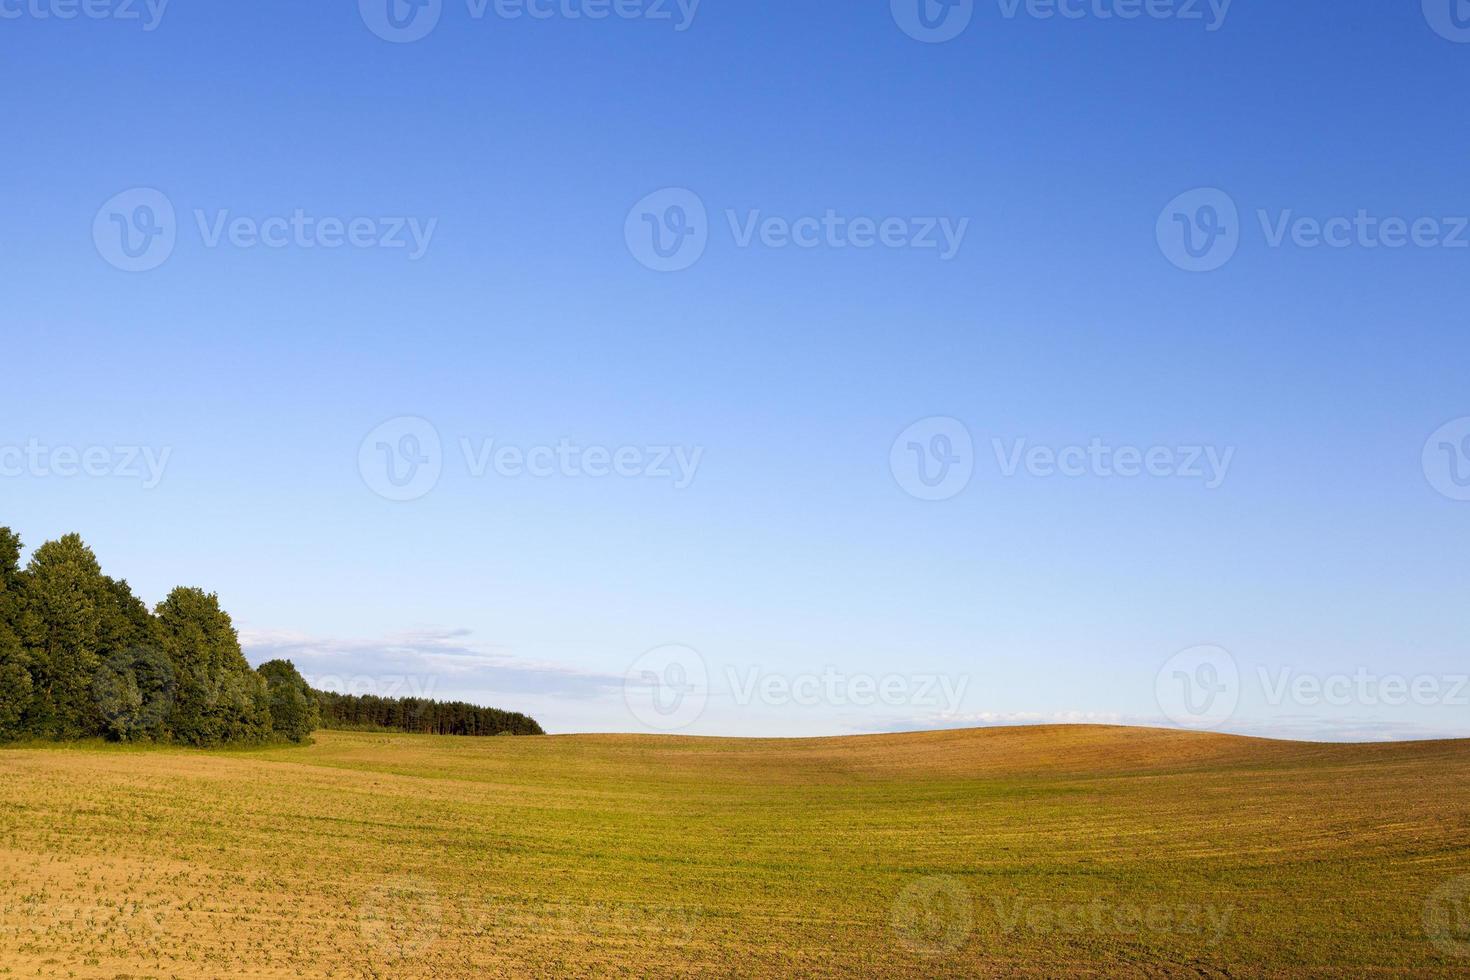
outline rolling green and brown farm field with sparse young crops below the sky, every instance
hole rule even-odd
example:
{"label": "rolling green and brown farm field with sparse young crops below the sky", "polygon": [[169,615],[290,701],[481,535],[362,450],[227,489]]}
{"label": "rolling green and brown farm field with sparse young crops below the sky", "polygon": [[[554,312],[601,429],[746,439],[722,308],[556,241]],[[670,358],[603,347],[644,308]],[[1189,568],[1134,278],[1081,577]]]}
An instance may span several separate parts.
{"label": "rolling green and brown farm field with sparse young crops below the sky", "polygon": [[1464,976],[1470,743],[0,751],[0,977]]}

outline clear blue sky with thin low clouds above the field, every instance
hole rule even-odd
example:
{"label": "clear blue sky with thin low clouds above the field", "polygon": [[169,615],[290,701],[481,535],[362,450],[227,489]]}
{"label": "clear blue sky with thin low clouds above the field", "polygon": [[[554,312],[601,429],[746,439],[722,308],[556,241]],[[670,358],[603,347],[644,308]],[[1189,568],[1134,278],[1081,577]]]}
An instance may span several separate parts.
{"label": "clear blue sky with thin low clouds above the field", "polygon": [[[992,0],[926,43],[904,0],[444,0],[394,43],[372,0],[7,1],[0,522],[216,589],[256,661],[554,732],[1470,735],[1470,12],[1435,4]],[[703,253],[660,272],[673,206]],[[559,445],[639,475],[492,463]],[[1007,472],[1036,447],[1085,461]],[[437,479],[387,500],[410,454]],[[1179,677],[1235,708],[1180,720]]]}

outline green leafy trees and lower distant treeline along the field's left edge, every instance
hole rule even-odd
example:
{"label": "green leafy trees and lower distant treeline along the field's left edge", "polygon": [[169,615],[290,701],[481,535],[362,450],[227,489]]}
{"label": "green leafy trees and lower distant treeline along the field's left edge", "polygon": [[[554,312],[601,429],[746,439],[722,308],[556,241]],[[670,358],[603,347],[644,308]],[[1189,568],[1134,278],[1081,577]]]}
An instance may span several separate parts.
{"label": "green leafy trees and lower distant treeline along the field's left edge", "polygon": [[285,660],[251,670],[219,597],[178,588],[151,611],[78,535],[21,566],[0,527],[0,741],[304,742],[318,727],[542,735],[510,711],[313,691]]}

